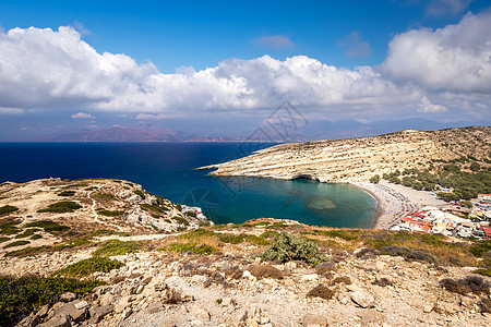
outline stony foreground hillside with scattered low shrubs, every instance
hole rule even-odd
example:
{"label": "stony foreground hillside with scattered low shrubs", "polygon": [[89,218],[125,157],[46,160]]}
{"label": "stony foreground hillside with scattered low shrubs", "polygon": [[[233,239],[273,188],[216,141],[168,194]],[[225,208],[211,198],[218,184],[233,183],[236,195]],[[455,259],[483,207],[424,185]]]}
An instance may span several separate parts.
{"label": "stony foreground hillside with scattered low shrubs", "polygon": [[[19,326],[45,327],[489,326],[491,278],[472,271],[491,246],[455,242],[274,219],[160,239],[105,235],[4,255],[0,303],[11,307],[0,316],[5,326],[25,317]],[[21,277],[29,272],[41,277]],[[71,289],[60,277],[82,284]],[[19,311],[46,280],[58,293],[31,315]]]}

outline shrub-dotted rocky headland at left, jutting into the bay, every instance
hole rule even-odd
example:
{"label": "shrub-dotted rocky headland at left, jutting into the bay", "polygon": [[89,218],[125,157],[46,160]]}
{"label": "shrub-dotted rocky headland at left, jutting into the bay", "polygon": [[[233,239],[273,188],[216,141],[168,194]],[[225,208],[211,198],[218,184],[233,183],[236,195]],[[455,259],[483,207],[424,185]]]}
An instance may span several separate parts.
{"label": "shrub-dotted rocky headland at left, jutting into the bay", "polygon": [[69,246],[94,233],[161,234],[213,223],[141,185],[112,179],[2,183],[0,220],[0,254]]}

